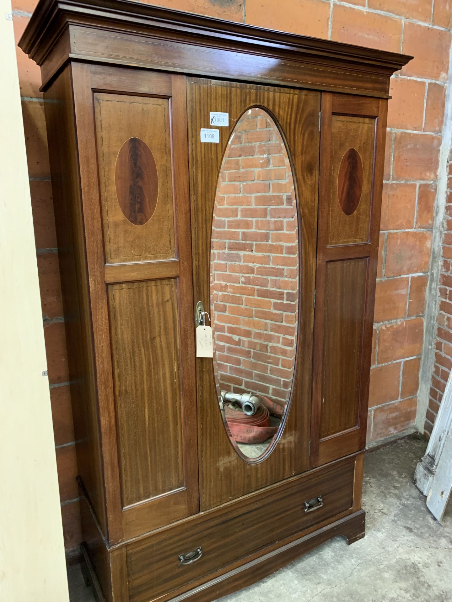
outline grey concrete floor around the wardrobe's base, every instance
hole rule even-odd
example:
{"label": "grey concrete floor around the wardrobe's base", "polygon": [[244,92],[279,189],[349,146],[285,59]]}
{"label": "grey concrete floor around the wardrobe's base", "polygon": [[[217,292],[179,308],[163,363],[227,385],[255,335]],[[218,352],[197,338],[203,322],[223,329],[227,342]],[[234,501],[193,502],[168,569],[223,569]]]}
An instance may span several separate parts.
{"label": "grey concrete floor around the wardrobe's base", "polygon": [[[404,439],[366,455],[366,536],[348,546],[326,542],[221,602],[452,601],[452,503],[444,527],[413,485],[422,439]],[[71,602],[93,602],[80,568],[68,571]]]}

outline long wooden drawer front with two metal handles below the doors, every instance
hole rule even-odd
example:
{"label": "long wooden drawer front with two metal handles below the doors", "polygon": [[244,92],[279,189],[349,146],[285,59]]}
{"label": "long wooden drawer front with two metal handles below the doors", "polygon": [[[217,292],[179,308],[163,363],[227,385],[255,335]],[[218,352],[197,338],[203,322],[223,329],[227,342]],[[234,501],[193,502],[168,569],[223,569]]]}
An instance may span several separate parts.
{"label": "long wooden drawer front with two metal handles below the doors", "polygon": [[350,509],[353,477],[354,458],[128,545],[130,602],[148,602],[207,580],[265,545]]}

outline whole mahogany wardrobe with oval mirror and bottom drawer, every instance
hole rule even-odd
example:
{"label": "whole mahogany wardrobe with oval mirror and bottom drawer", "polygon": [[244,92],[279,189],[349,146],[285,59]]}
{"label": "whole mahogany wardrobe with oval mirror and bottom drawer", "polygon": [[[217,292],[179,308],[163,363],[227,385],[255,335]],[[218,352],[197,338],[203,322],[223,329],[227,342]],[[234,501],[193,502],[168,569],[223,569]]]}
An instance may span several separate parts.
{"label": "whole mahogany wardrobe with oval mirror and bottom drawer", "polygon": [[40,0],[86,579],[210,601],[362,538],[389,78],[410,57]]}

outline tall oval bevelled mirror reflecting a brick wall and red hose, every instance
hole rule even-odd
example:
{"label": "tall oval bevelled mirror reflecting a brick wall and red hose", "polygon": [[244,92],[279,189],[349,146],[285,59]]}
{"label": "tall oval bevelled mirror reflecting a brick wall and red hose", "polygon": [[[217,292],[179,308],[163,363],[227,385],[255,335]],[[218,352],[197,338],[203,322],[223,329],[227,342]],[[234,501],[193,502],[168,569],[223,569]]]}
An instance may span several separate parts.
{"label": "tall oval bevelled mirror reflecting a brick wall and red hose", "polygon": [[289,411],[297,351],[298,214],[283,138],[251,108],[224,154],[213,208],[213,368],[233,445],[263,459]]}

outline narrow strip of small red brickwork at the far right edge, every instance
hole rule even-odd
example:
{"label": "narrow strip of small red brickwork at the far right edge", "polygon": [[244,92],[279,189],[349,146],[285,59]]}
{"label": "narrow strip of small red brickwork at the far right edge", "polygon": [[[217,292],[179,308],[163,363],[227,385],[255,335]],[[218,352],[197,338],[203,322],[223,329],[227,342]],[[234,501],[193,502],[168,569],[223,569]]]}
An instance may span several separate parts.
{"label": "narrow strip of small red brickwork at the far right edge", "polygon": [[435,360],[428,394],[424,435],[432,434],[442,395],[452,368],[452,149],[447,164],[447,192],[436,314]]}

